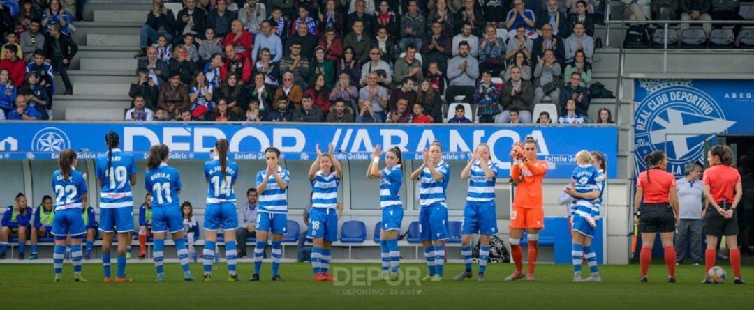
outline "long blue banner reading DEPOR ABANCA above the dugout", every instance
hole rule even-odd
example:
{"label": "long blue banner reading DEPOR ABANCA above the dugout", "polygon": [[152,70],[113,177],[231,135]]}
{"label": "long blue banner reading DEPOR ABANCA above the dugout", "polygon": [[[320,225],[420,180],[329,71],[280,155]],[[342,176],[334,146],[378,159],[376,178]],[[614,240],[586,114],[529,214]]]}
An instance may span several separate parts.
{"label": "long blue banner reading DEPOR ABANCA above the dugout", "polygon": [[[376,144],[398,146],[404,160],[420,160],[421,152],[438,140],[446,160],[467,160],[474,146],[489,144],[500,176],[510,175],[510,146],[526,135],[537,139],[541,159],[550,162],[548,178],[569,178],[579,150],[599,150],[617,163],[615,126],[412,126],[250,123],[0,123],[0,158],[54,159],[62,149],[78,150],[81,158],[106,151],[109,131],[121,136],[121,148],[146,158],[149,147],[164,143],[176,160],[206,160],[217,138],[230,142],[233,160],[264,160],[266,147],[278,147],[288,160],[312,160],[317,144],[333,143],[336,157],[369,160]],[[615,178],[615,169],[608,176]]]}

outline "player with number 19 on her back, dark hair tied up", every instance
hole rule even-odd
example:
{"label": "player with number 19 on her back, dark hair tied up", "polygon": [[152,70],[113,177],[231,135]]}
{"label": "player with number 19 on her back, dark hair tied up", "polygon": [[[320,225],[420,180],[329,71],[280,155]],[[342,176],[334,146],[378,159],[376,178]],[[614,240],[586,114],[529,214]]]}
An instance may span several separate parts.
{"label": "player with number 19 on her back, dark hair tied up", "polygon": [[104,282],[110,280],[110,247],[118,228],[118,274],[115,282],[131,282],[126,278],[126,251],[133,231],[133,192],[136,185],[136,160],[118,146],[121,137],[115,132],[105,135],[107,153],[97,155],[97,186],[100,187],[100,231]]}

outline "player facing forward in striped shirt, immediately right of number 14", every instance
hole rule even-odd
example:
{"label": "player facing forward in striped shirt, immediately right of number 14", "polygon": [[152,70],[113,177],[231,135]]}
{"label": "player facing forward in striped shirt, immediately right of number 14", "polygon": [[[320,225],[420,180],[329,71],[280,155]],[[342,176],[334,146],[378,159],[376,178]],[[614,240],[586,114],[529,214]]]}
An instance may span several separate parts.
{"label": "player facing forward in striped shirt, immediately right of number 14", "polygon": [[267,168],[256,174],[256,190],[259,193],[259,211],[256,213],[256,247],[254,248],[254,275],[249,281],[259,281],[262,257],[267,245],[267,233],[272,232],[272,281],[283,281],[278,275],[283,254],[283,235],[288,227],[288,200],[285,191],[290,183],[290,172],[280,168],[280,150],[267,147]]}

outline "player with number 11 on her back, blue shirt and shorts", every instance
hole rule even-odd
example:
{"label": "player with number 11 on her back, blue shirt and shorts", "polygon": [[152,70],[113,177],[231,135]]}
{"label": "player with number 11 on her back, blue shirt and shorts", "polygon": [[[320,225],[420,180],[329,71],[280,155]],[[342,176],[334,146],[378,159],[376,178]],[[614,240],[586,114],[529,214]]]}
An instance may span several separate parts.
{"label": "player with number 11 on her back, blue shirt and shorts", "polygon": [[152,234],[155,240],[152,258],[155,260],[157,269],[157,281],[164,282],[163,248],[165,233],[170,232],[183,269],[183,280],[194,281],[189,271],[189,251],[186,250],[183,240],[183,217],[178,206],[181,202],[178,198],[178,193],[181,191],[181,177],[178,169],[167,166],[168,155],[170,155],[170,150],[167,145],[158,144],[149,148],[149,157],[146,159],[147,172],[144,178],[144,188],[152,195]]}

